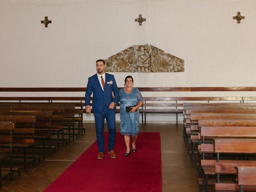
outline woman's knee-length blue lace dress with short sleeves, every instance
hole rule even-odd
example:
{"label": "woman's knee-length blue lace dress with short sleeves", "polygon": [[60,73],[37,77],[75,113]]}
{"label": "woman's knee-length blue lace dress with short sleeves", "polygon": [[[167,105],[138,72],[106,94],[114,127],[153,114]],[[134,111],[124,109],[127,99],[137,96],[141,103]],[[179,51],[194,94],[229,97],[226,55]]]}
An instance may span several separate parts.
{"label": "woman's knee-length blue lace dress with short sleeves", "polygon": [[126,106],[136,106],[139,101],[143,101],[138,88],[133,88],[130,93],[126,93],[124,88],[119,90],[118,101],[120,101],[120,133],[122,135],[135,136],[139,133],[139,115],[137,110],[134,113],[126,112]]}

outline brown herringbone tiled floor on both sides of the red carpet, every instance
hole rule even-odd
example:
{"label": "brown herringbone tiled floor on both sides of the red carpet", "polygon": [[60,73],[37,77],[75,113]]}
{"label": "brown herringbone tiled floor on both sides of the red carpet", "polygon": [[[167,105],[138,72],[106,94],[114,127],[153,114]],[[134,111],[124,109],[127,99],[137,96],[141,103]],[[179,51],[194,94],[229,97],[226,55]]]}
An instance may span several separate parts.
{"label": "brown herringbone tiled floor on both sides of the red carpet", "polygon": [[[22,170],[20,177],[15,174],[13,181],[3,180],[2,191],[42,192],[96,140],[94,124],[84,124],[84,126],[86,134],[80,136],[78,140],[71,141],[51,156],[46,154],[46,160],[40,164],[37,162],[34,167],[28,165],[28,171],[24,173]],[[119,126],[120,124],[117,124],[117,127]],[[146,124],[140,125],[140,131],[160,132],[163,192],[197,192],[198,173],[196,168],[191,166],[190,158],[186,154],[182,136],[183,125]],[[97,152],[92,155],[96,157]],[[16,161],[14,163],[17,164]],[[214,189],[210,188],[209,192],[211,191]]]}

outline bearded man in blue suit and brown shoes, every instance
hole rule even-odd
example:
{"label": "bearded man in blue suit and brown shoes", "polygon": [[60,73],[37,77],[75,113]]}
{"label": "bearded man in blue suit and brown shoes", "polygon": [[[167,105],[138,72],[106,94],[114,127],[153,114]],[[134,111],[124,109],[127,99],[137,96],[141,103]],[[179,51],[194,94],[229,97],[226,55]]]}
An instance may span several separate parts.
{"label": "bearded man in blue suit and brown shoes", "polygon": [[[97,74],[88,78],[85,93],[86,112],[91,113],[90,96],[92,97],[92,110],[94,112],[97,144],[99,154],[97,159],[104,157],[104,120],[108,124],[108,153],[111,158],[116,158],[114,152],[114,142],[116,137],[116,103],[118,100],[118,87],[114,75],[105,73],[105,61],[96,61]],[[113,94],[114,93],[114,97]]]}

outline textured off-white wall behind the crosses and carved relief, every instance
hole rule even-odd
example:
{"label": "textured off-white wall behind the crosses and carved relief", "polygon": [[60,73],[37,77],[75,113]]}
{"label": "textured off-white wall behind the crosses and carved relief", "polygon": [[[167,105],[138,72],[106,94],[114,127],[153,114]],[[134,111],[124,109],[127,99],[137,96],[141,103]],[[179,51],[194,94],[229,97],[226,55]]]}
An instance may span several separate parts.
{"label": "textured off-white wall behind the crosses and carved relief", "polygon": [[[184,59],[185,72],[112,73],[119,87],[127,75],[137,87],[255,86],[255,8],[255,0],[1,0],[0,87],[86,87],[97,59],[139,44]],[[241,24],[232,18],[238,11]],[[142,26],[134,22],[138,14],[146,18]],[[44,16],[52,20],[48,28]],[[49,94],[63,95],[40,93]],[[255,94],[172,93],[184,95]]]}

